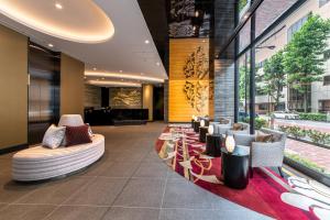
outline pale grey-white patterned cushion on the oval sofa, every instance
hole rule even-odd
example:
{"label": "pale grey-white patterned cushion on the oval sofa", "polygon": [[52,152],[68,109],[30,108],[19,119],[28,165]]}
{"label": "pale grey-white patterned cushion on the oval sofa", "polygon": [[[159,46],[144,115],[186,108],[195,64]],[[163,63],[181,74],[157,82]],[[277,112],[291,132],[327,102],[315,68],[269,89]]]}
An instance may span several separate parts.
{"label": "pale grey-white patterned cushion on the oval sofa", "polygon": [[65,127],[55,127],[54,124],[52,124],[47,129],[43,138],[42,145],[50,148],[56,148],[63,142],[64,136],[65,136]]}

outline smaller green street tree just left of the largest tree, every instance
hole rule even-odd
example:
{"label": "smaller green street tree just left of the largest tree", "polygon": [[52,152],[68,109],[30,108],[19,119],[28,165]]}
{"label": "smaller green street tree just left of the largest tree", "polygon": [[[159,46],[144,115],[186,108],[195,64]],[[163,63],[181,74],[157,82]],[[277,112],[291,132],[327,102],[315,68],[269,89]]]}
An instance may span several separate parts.
{"label": "smaller green street tree just left of the largest tree", "polygon": [[283,97],[282,89],[286,86],[283,51],[277,52],[265,62],[263,81],[265,94],[275,100],[275,109],[277,109],[279,99]]}

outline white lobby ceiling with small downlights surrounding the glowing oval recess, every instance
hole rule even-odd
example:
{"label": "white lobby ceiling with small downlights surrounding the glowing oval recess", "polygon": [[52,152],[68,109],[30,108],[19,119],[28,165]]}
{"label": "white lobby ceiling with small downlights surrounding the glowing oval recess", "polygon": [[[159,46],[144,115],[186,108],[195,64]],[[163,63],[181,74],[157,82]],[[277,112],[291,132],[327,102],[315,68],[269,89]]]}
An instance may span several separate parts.
{"label": "white lobby ceiling with small downlights surrounding the glowing oval recess", "polygon": [[[92,3],[90,2],[91,0],[0,0],[0,4],[12,1],[22,4],[29,2],[31,6],[37,6],[35,8],[32,7],[33,10],[29,12],[34,14],[41,13],[40,18],[42,15],[43,19],[48,14],[48,22],[62,18],[61,21],[54,21],[53,24],[59,25],[59,22],[66,23],[66,26],[69,26],[73,32],[75,31],[75,26],[77,30],[86,31],[88,29],[90,31],[88,34],[96,33],[96,29],[100,31],[99,28],[89,29],[89,25],[94,25],[97,19],[88,19],[89,22],[86,20],[86,18],[90,16],[92,10],[87,13],[88,9],[85,6],[88,6],[88,2]],[[45,2],[50,3],[50,6]],[[54,47],[52,50],[64,52],[85,62],[86,70],[89,73],[117,73],[119,78],[120,75],[128,74],[166,79],[165,68],[138,1],[94,0],[94,2],[103,10],[114,26],[113,36],[103,43],[90,44],[63,40],[28,28],[3,14],[0,14],[0,22],[24,33],[38,44],[44,46],[53,44]],[[61,3],[63,9],[56,9],[55,3]],[[73,9],[75,7],[76,9]],[[24,10],[26,8],[21,9]],[[50,13],[45,13],[45,11]],[[24,13],[28,12],[24,11]],[[77,23],[77,21],[80,21],[80,23]],[[146,40],[150,41],[148,44],[145,44]],[[105,76],[102,75],[102,77]],[[113,79],[113,76],[111,79]],[[100,80],[102,79],[100,78]],[[107,80],[107,77],[105,80]]]}

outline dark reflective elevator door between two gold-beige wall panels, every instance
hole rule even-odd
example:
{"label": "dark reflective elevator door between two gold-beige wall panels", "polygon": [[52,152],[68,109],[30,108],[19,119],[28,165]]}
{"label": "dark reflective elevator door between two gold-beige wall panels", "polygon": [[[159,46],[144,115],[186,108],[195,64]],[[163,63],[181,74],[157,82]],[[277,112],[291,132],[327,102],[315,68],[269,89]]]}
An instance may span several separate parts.
{"label": "dark reflective elevator door between two gold-beige wall panels", "polygon": [[29,144],[37,144],[59,117],[58,54],[31,43],[29,74]]}

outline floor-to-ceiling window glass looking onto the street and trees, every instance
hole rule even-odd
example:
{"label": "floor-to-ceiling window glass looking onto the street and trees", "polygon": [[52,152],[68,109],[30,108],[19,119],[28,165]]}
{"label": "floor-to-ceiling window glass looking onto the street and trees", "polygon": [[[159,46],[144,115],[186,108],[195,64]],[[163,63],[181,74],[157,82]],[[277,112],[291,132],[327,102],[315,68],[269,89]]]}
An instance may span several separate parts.
{"label": "floor-to-ceiling window glass looking onto the street and trees", "polygon": [[[277,7],[275,7],[275,4]],[[255,132],[287,133],[286,160],[330,177],[330,2],[265,0],[241,30],[239,121],[249,122],[255,85]],[[255,32],[255,42],[250,33]],[[255,53],[250,53],[255,50]],[[241,53],[240,53],[241,52]],[[251,57],[251,54],[255,54]],[[255,78],[250,66],[255,64]]]}

